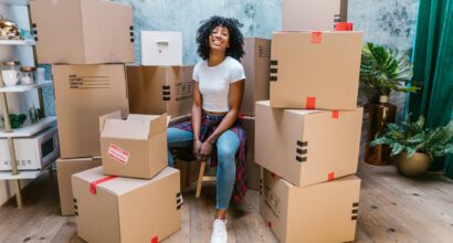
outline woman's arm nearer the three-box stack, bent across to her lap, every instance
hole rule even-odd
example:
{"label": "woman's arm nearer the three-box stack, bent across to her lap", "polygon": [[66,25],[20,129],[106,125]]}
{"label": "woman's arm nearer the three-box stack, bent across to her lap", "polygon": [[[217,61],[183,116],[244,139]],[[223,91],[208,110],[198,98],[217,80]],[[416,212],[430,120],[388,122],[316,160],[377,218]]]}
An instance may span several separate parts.
{"label": "woman's arm nearer the three-box stack, bent across to her lap", "polygon": [[241,108],[242,97],[244,94],[245,80],[234,82],[230,85],[230,110],[225,117],[215,128],[215,130],[209,136],[208,139],[201,146],[200,156],[202,160],[208,159],[211,154],[212,145],[223,134],[223,131],[230,129],[239,117],[239,109]]}

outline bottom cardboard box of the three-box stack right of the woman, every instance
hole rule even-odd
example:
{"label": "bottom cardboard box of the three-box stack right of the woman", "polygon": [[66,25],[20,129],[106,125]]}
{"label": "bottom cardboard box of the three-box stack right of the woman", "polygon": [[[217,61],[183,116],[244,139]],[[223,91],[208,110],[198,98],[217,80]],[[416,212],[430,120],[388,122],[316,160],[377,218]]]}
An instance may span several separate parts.
{"label": "bottom cardboard box of the three-box stack right of the woman", "polygon": [[360,179],[298,188],[265,171],[260,212],[280,242],[352,242]]}

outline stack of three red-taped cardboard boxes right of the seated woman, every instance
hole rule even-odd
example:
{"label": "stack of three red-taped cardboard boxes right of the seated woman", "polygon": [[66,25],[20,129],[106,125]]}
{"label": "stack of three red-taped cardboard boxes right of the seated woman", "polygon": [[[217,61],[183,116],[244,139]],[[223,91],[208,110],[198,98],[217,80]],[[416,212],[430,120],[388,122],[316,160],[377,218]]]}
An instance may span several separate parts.
{"label": "stack of three red-taped cardboard boxes right of the seated woman", "polygon": [[355,239],[361,41],[354,31],[272,36],[271,98],[255,106],[255,161],[264,168],[261,214],[281,242]]}

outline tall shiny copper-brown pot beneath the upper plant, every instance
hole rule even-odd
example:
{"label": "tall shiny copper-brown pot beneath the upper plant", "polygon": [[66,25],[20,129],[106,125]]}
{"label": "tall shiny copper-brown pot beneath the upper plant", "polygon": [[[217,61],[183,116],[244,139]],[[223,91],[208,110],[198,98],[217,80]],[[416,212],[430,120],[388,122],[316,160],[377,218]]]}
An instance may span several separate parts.
{"label": "tall shiny copper-brown pot beneath the upper plant", "polygon": [[376,135],[381,135],[386,129],[387,124],[394,123],[397,106],[389,103],[389,96],[381,95],[379,104],[371,106],[369,112],[369,126],[367,149],[365,152],[365,161],[373,166],[390,165],[390,148],[388,145],[378,145],[370,147],[370,142]]}

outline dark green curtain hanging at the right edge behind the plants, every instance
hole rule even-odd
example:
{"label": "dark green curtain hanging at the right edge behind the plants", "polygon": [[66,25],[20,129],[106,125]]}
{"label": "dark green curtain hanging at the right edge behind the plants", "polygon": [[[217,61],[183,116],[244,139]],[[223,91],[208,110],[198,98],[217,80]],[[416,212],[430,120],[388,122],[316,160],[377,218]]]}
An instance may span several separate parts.
{"label": "dark green curtain hanging at the right edge behind the plants", "polygon": [[[453,119],[453,0],[421,0],[419,8],[412,84],[422,89],[410,95],[409,112],[435,127]],[[435,159],[431,169],[453,178],[453,156]]]}

